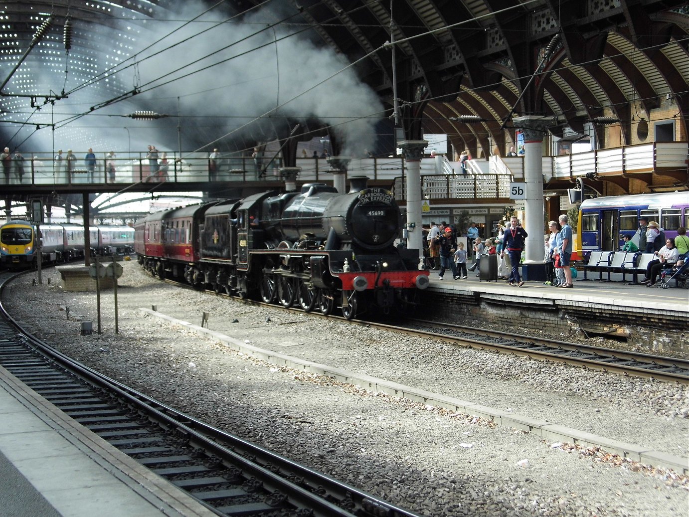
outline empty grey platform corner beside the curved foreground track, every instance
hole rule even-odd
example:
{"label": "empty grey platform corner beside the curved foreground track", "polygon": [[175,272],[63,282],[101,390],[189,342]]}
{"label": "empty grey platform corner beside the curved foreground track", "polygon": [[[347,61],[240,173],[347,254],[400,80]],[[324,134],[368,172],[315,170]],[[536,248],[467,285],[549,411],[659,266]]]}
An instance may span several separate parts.
{"label": "empty grey platform corner beside the curved foreground track", "polygon": [[211,517],[0,367],[0,515]]}

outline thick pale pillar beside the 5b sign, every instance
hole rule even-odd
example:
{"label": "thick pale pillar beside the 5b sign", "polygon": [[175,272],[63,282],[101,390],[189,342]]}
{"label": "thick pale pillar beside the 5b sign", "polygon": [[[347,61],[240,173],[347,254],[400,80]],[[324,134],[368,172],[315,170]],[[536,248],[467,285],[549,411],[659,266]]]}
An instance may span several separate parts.
{"label": "thick pale pillar beside the 5b sign", "polygon": [[546,265],[543,263],[545,210],[543,205],[543,137],[555,121],[552,117],[517,116],[515,128],[524,133],[524,190],[525,216],[522,224],[528,233],[525,243],[522,276],[524,280],[545,281]]}

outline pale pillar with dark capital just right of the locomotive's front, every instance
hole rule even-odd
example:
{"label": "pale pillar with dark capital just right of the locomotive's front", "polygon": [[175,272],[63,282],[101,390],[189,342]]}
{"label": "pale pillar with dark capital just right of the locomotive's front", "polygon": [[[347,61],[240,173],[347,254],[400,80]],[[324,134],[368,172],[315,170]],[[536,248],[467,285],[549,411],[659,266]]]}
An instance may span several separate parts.
{"label": "pale pillar with dark capital just right of the locomotive's front", "polygon": [[407,247],[419,250],[424,259],[423,225],[421,220],[421,158],[429,145],[425,140],[404,140],[398,143],[407,161]]}

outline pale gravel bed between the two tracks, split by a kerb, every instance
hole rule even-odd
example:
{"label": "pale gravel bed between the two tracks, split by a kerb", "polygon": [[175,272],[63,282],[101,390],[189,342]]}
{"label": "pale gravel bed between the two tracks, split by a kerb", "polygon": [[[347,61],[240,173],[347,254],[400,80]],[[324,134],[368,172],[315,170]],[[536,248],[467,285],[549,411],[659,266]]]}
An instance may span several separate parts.
{"label": "pale gravel bed between the two tracks, split by a kerb", "polygon": [[686,388],[253,307],[124,266],[119,334],[112,290],[101,293],[103,334],[81,336],[81,319],[96,329],[96,296],[64,292],[50,270],[43,285],[23,276],[3,303],[112,378],[423,516],[686,515],[686,476],[276,367],[138,307],[197,324],[206,311],[212,330],[258,347],[685,457]]}

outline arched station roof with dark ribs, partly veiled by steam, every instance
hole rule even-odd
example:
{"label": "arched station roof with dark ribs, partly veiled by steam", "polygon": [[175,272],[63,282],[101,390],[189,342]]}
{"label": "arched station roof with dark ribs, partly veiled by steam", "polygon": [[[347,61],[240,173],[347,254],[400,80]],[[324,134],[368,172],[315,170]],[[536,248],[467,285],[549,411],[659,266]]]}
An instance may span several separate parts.
{"label": "arched station roof with dark ribs, partly veiled by steam", "polygon": [[[0,131],[12,148],[145,148],[136,128],[169,148],[184,138],[248,150],[295,123],[305,138],[336,126],[346,108],[388,121],[395,93],[409,138],[446,133],[486,155],[507,145],[515,115],[553,117],[558,136],[620,121],[624,144],[670,103],[668,119],[687,129],[686,1],[52,0],[6,1],[0,15]],[[351,105],[334,95],[353,82],[343,68],[382,108],[358,105],[367,94],[354,87]],[[308,81],[319,74],[337,82],[319,92]],[[126,118],[137,112],[152,115]]]}

